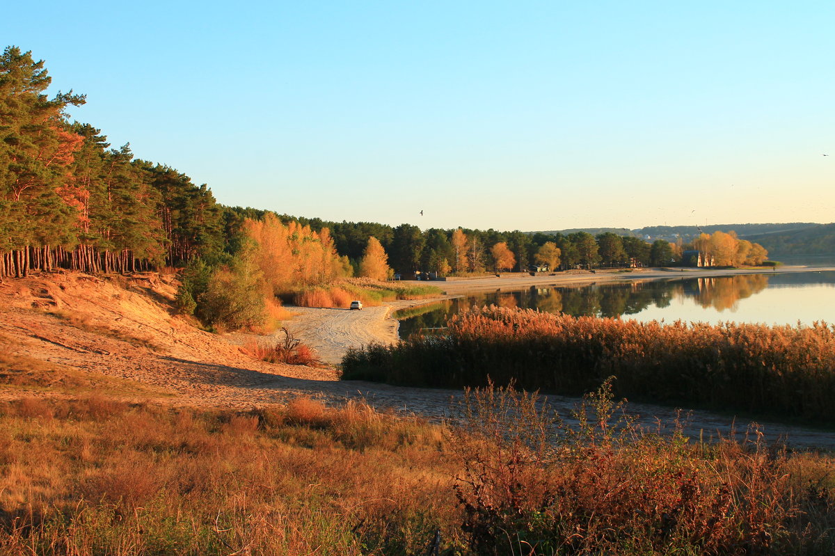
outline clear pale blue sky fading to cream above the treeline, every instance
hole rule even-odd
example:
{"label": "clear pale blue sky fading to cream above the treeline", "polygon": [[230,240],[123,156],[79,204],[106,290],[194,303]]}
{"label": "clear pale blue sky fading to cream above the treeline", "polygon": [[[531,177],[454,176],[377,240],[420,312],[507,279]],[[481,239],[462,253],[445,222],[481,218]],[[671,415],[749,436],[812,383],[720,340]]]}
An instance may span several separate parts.
{"label": "clear pale blue sky fading to cream above the treeline", "polygon": [[833,28],[828,0],[46,0],[0,42],[225,205],[532,231],[835,220]]}

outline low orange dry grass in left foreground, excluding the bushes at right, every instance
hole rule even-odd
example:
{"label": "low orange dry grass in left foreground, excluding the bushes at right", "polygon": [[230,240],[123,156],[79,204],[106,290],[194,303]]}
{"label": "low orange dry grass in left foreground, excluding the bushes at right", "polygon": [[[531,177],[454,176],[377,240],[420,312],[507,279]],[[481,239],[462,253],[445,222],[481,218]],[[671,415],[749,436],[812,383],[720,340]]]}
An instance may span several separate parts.
{"label": "low orange dry grass in left foreground, excluding the bushes at right", "polygon": [[438,427],[362,404],[29,398],[0,423],[4,555],[417,553],[456,513]]}

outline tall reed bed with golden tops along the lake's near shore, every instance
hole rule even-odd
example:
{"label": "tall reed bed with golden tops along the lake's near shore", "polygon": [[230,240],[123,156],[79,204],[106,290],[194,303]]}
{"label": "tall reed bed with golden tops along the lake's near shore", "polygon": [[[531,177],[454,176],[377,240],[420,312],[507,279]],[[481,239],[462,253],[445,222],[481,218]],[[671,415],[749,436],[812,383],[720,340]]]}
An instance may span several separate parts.
{"label": "tall reed bed with golden tops along the lake's near shore", "polygon": [[347,353],[343,377],[426,387],[516,382],[579,396],[615,393],[835,422],[835,326],[662,324],[484,307],[443,335]]}

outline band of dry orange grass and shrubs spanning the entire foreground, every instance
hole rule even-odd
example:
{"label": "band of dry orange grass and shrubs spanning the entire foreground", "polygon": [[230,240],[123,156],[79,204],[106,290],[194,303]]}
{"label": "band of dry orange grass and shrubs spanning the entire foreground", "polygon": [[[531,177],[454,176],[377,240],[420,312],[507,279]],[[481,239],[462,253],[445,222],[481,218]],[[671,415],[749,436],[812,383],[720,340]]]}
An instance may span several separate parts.
{"label": "band of dry orange grass and shrubs spanning the entire foreground", "polygon": [[513,389],[458,425],[364,402],[0,404],[0,554],[830,554],[831,457],[563,427]]}

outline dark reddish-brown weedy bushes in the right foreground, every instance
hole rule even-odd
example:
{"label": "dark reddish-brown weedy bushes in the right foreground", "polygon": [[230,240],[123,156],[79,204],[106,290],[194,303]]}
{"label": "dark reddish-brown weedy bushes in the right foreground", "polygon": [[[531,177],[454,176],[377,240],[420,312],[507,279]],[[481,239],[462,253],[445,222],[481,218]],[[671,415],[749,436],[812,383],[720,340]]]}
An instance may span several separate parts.
{"label": "dark reddish-brown weedy bushes in the right foreground", "polygon": [[[513,388],[467,393],[449,437],[476,554],[828,554],[831,457],[691,443],[618,418],[608,386],[566,427]],[[676,423],[670,423],[675,427]],[[500,539],[500,540],[499,540]],[[499,542],[497,542],[499,541]]]}

